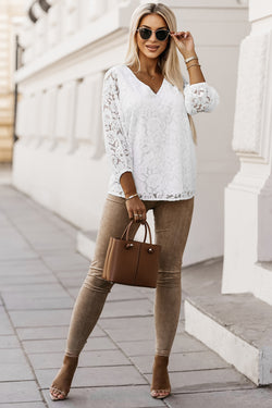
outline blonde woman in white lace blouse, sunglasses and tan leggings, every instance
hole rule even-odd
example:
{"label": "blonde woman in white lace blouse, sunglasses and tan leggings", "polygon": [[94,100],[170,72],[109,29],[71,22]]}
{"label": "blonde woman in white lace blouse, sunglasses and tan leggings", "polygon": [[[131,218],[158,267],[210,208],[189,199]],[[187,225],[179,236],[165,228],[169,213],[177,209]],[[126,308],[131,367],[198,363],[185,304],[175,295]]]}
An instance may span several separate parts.
{"label": "blonde woman in white lace blouse, sunglasses and tan leggings", "polygon": [[[177,50],[189,83],[181,74]],[[195,196],[196,132],[190,114],[213,110],[219,95],[205,82],[191,34],[176,33],[175,16],[162,3],[141,4],[133,13],[125,64],[106,72],[102,95],[112,175],[95,257],[73,309],[63,366],[50,395],[53,400],[66,397],[79,353],[112,287],[101,277],[110,236],[120,236],[129,220],[135,221],[134,236],[152,209],[161,257],[150,394],[165,398],[171,392],[168,362],[180,317],[181,267]]]}

